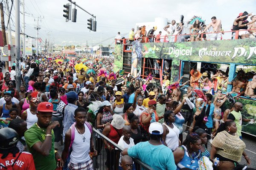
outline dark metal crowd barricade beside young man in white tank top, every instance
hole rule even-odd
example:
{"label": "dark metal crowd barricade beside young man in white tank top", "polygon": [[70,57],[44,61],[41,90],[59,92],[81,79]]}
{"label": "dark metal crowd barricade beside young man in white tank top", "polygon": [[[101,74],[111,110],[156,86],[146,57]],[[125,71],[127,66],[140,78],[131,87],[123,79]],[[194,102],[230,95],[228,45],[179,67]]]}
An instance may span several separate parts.
{"label": "dark metal crowd barricade beside young man in white tank top", "polygon": [[[117,145],[115,142],[111,141],[111,139],[104,136],[95,128],[93,128],[93,138],[94,138],[94,146],[98,151],[98,156],[93,158],[94,170],[107,170],[108,169],[107,166],[109,166],[111,162],[113,163],[111,164],[113,165],[113,168],[111,168],[110,170],[118,170],[119,156],[123,148]],[[105,149],[103,139],[105,139],[109,144],[113,145],[113,147],[117,148],[118,150],[114,149],[113,153],[110,153],[108,149]],[[107,155],[108,155],[108,158],[107,158]],[[133,161],[134,161],[136,170],[153,170],[150,166],[140,161],[139,159],[133,158]]]}

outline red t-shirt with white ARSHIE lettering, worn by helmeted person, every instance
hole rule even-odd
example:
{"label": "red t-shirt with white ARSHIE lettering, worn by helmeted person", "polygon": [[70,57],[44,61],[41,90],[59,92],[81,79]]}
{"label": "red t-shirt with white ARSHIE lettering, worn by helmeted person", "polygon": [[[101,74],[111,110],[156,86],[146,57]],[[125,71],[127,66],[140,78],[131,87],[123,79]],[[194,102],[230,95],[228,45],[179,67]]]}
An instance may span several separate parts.
{"label": "red t-shirt with white ARSHIE lettering, worn by helmeted person", "polygon": [[[5,170],[5,168],[2,167],[1,165],[7,168],[12,167],[13,162],[19,154],[20,153],[16,153],[16,156],[13,157],[12,153],[9,153],[9,155],[6,158],[0,159],[0,169]],[[2,156],[3,154],[0,153],[0,157]],[[13,170],[35,170],[34,159],[31,153],[22,152],[12,168]]]}

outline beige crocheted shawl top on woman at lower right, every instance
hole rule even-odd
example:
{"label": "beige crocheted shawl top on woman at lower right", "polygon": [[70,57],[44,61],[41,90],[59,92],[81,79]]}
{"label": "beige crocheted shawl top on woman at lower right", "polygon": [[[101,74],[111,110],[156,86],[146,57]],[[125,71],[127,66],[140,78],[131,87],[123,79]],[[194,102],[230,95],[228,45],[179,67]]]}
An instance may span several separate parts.
{"label": "beige crocheted shawl top on woman at lower right", "polygon": [[245,149],[245,143],[239,136],[230,135],[225,130],[215,136],[212,145],[217,147],[216,154],[233,161],[241,161],[241,156]]}

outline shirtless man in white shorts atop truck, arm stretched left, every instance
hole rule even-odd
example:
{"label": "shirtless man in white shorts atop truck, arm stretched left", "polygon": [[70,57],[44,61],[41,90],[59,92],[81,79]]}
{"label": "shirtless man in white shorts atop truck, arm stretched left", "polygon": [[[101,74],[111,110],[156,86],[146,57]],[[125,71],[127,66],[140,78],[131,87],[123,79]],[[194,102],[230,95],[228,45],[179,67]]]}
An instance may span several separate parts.
{"label": "shirtless man in white shorts atop truck, arm stretched left", "polygon": [[204,31],[202,31],[201,34],[203,34],[205,31],[207,31],[207,29],[212,27],[213,30],[210,40],[221,40],[221,20],[217,20],[216,17],[212,17],[211,19],[212,22],[209,23],[206,28],[204,28]]}

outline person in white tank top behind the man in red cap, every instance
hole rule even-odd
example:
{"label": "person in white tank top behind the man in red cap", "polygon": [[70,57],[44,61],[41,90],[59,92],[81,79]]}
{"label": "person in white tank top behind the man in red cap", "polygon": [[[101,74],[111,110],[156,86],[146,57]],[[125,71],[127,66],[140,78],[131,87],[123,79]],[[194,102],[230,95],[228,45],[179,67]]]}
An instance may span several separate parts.
{"label": "person in white tank top behind the man in red cap", "polygon": [[29,98],[30,108],[28,108],[26,111],[24,111],[21,114],[21,119],[27,122],[27,129],[29,129],[32,125],[35,124],[35,122],[38,121],[38,118],[36,116],[38,103],[39,101],[37,98],[30,97]]}

